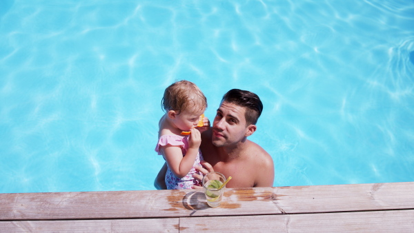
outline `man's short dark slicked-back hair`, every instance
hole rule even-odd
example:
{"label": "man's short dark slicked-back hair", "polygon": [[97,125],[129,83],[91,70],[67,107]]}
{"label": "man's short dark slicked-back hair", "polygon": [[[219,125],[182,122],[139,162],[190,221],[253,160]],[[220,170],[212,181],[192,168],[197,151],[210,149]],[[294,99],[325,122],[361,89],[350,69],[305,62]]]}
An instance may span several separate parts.
{"label": "man's short dark slicked-back hair", "polygon": [[224,94],[221,103],[226,101],[228,103],[234,103],[241,107],[246,108],[246,124],[255,125],[260,114],[262,114],[263,104],[257,94],[249,92],[248,90],[232,89]]}

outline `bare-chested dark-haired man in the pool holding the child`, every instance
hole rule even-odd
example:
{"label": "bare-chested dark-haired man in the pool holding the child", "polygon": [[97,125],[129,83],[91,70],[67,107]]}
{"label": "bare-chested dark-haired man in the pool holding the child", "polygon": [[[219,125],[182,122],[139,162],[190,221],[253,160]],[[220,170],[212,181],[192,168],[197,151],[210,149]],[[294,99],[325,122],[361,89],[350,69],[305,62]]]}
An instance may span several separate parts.
{"label": "bare-chested dark-haired man in the pool holding the child", "polygon": [[[271,187],[275,178],[273,159],[262,147],[247,139],[257,127],[263,105],[253,92],[233,89],[224,94],[213,127],[201,132],[204,156],[198,168],[203,174],[221,172],[232,176],[227,188]],[[155,179],[155,188],[166,189],[166,165]],[[195,176],[201,180],[202,176]],[[193,186],[193,188],[201,188]]]}

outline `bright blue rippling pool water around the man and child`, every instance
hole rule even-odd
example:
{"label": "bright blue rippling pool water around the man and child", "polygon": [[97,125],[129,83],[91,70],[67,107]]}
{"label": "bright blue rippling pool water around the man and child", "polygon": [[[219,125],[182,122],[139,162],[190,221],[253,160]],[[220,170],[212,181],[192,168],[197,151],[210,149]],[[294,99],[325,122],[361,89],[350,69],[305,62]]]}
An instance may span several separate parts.
{"label": "bright blue rippling pool water around the man and child", "polygon": [[275,186],[414,181],[413,74],[414,1],[2,0],[0,192],[154,189],[176,79],[259,94]]}

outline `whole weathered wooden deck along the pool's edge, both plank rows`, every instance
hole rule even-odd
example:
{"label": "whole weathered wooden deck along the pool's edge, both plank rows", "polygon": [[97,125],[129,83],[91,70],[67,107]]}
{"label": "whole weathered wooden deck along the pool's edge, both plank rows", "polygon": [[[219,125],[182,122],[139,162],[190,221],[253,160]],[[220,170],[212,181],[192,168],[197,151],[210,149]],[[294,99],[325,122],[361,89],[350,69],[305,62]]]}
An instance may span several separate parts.
{"label": "whole weathered wooden deck along the pool's edge, both plank rows", "polygon": [[0,194],[0,232],[414,232],[414,182]]}

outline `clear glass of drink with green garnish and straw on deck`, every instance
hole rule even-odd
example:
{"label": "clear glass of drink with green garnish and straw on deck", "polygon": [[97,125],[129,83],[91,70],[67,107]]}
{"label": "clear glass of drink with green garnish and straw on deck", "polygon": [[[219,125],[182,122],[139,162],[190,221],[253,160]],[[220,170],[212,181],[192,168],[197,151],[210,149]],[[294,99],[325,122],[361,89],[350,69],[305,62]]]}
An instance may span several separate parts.
{"label": "clear glass of drink with green garnish and straw on deck", "polygon": [[219,188],[224,181],[226,181],[226,177],[220,172],[210,172],[203,177],[204,194],[206,194],[207,204],[211,207],[220,205],[226,186]]}

